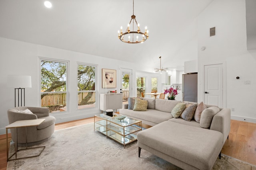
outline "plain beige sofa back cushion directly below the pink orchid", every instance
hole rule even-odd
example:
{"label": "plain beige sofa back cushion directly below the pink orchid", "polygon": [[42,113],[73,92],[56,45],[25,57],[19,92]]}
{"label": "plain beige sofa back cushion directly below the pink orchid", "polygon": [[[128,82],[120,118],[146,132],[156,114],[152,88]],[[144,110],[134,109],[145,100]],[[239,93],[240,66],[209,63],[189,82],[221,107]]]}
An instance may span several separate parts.
{"label": "plain beige sofa back cushion directly below the pink orchid", "polygon": [[164,99],[156,99],[156,110],[169,112],[171,113],[172,109],[176,106],[176,104],[180,103],[178,100],[164,100]]}

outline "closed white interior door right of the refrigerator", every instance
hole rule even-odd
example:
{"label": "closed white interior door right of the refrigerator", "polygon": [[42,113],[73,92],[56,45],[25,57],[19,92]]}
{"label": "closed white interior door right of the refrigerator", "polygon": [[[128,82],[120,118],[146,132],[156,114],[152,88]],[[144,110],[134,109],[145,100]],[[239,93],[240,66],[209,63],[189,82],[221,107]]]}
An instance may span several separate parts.
{"label": "closed white interior door right of the refrigerator", "polygon": [[223,66],[204,66],[204,103],[223,107]]}

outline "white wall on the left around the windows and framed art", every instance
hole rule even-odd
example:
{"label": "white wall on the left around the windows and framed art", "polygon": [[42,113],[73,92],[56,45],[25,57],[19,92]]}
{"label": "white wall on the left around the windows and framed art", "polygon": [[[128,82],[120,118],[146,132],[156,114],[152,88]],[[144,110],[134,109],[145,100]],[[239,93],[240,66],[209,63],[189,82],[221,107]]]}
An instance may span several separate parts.
{"label": "white wall on the left around the windows and framed art", "polygon": [[[96,90],[98,90],[98,95],[99,93],[105,93],[106,90],[118,90],[118,92],[120,92],[121,87],[119,87],[120,83],[118,83],[118,81],[120,81],[120,76],[118,76],[120,67],[132,69],[133,80],[135,80],[137,69],[143,69],[140,64],[128,63],[0,37],[0,134],[5,133],[4,127],[9,124],[7,110],[14,107],[14,89],[7,87],[8,75],[30,75],[32,78],[32,88],[26,88],[26,106],[40,106],[39,57],[61,59],[70,62],[70,112],[54,115],[57,119],[56,123],[92,117],[94,114],[100,113],[98,108],[88,110],[76,109],[77,62],[98,65],[98,72],[96,73],[98,84],[98,86],[96,85]],[[102,89],[102,68],[117,70],[116,88]],[[135,84],[134,82],[135,81],[133,81],[133,89],[136,89],[136,82]]]}

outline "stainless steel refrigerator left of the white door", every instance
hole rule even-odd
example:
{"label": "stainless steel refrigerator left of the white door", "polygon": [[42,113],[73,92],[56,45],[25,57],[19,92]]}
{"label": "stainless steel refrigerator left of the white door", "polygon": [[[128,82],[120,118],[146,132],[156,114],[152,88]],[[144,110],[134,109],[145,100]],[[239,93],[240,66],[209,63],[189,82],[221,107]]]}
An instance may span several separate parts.
{"label": "stainless steel refrigerator left of the white door", "polygon": [[182,74],[182,101],[197,102],[197,73]]}

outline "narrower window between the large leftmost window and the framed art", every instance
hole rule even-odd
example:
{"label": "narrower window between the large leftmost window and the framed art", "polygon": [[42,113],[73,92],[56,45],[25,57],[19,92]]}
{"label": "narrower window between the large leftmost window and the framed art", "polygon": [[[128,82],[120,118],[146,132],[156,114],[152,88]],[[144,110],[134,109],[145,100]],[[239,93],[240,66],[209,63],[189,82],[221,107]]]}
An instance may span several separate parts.
{"label": "narrower window between the large leftmost window and the framed art", "polygon": [[78,109],[92,108],[96,106],[95,70],[95,66],[78,64]]}

